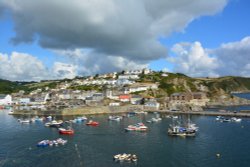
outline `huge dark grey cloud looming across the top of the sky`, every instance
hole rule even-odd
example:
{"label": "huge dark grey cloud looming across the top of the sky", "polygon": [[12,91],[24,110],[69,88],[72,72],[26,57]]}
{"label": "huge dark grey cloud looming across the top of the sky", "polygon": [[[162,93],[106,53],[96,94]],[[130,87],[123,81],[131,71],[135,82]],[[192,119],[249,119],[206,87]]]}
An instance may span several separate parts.
{"label": "huge dark grey cloud looming across the top of the sky", "polygon": [[37,40],[44,48],[92,49],[126,60],[166,56],[157,40],[189,22],[221,11],[227,0],[2,0],[12,15],[15,44]]}

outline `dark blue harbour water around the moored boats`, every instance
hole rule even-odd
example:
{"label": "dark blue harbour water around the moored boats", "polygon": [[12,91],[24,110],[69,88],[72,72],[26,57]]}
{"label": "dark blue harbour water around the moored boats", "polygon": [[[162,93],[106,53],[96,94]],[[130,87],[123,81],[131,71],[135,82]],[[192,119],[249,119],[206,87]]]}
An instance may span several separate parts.
{"label": "dark blue harbour water around the moored boats", "polygon": [[[72,124],[75,135],[63,136],[44,123],[20,124],[17,118],[0,111],[0,166],[2,167],[236,167],[250,164],[250,119],[240,123],[216,122],[215,117],[191,116],[199,126],[196,137],[167,135],[172,120],[146,124],[148,132],[125,132],[130,124],[155,115],[139,115],[109,122],[108,115],[93,116],[98,127]],[[183,116],[184,117],[184,116]],[[70,119],[70,118],[63,118]],[[63,138],[64,146],[39,148],[37,142]],[[117,163],[113,155],[133,153],[135,163]],[[216,154],[220,154],[217,157]]]}

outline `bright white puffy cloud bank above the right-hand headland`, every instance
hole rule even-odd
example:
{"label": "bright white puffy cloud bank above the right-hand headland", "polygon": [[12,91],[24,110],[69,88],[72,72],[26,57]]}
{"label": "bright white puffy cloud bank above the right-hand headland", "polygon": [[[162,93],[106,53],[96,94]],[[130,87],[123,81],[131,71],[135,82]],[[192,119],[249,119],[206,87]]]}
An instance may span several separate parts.
{"label": "bright white puffy cloud bank above the right-hand headland", "polygon": [[174,71],[193,77],[250,76],[250,37],[222,44],[216,49],[205,49],[200,42],[178,43],[172,48],[168,61]]}

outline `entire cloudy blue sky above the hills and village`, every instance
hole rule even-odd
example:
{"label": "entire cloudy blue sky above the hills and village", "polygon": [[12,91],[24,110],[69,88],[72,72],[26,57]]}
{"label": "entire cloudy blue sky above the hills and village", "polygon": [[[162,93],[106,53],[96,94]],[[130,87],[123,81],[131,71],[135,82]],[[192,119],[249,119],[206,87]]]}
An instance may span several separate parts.
{"label": "entire cloudy blue sky above the hills and village", "polygon": [[248,0],[1,0],[0,78],[250,77]]}

